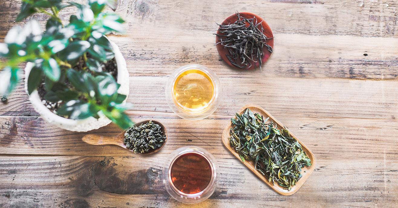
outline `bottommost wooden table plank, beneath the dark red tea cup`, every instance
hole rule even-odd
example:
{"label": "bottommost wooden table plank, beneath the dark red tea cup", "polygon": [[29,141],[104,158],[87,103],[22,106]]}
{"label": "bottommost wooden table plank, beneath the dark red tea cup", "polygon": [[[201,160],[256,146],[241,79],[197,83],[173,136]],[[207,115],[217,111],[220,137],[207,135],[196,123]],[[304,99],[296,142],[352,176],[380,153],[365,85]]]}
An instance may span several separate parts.
{"label": "bottommost wooden table plank, beneath the dark red tea cup", "polygon": [[[215,156],[220,182],[199,204],[171,198],[162,184],[166,155],[0,157],[1,207],[383,207],[398,205],[396,160],[318,160],[291,196],[275,193],[236,159]],[[6,196],[6,194],[9,194]]]}

